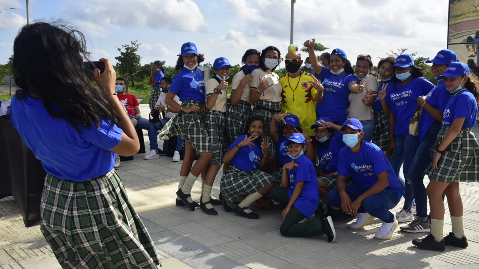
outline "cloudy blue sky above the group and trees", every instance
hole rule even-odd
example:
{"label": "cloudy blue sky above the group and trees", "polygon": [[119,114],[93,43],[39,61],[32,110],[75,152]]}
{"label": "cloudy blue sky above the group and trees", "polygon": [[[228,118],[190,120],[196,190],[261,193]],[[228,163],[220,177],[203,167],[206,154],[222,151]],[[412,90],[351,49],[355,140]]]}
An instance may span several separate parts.
{"label": "cloudy blue sky above the group and trees", "polygon": [[[24,0],[0,0],[0,63],[26,23]],[[206,61],[219,56],[239,64],[246,49],[289,45],[290,0],[30,0],[34,21],[64,19],[88,38],[93,59],[114,61],[116,47],[138,40],[141,63],[173,66],[184,42],[193,42]],[[310,38],[346,51],[348,58],[378,57],[409,48],[433,57],[446,47],[446,0],[297,0],[294,43]],[[284,65],[283,65],[284,66]]]}

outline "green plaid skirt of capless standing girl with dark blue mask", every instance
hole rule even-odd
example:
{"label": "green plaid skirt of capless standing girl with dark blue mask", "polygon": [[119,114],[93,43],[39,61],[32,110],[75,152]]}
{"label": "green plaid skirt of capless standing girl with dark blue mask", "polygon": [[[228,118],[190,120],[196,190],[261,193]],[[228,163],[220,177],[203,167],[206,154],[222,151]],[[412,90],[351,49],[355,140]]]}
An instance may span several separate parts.
{"label": "green plaid skirt of capless standing girl with dark blue mask", "polygon": [[244,134],[246,122],[252,113],[250,102],[239,100],[236,105],[228,105],[225,114],[225,134],[228,146],[233,144],[239,135]]}

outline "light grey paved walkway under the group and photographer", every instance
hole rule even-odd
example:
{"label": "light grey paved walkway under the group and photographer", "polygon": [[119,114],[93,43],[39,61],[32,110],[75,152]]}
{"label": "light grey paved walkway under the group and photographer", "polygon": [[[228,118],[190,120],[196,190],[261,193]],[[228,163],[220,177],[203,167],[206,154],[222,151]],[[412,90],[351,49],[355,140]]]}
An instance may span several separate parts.
{"label": "light grey paved walkway under the group and photographer", "polygon": [[[143,115],[148,105],[140,105]],[[476,128],[476,135],[479,128]],[[148,136],[145,131],[146,148]],[[160,143],[161,145],[161,143]],[[161,146],[160,146],[161,147]],[[334,219],[337,240],[328,244],[322,236],[290,238],[279,233],[281,209],[254,209],[261,217],[247,220],[226,213],[217,206],[218,216],[201,210],[187,211],[174,204],[181,162],[160,157],[144,160],[138,154],[133,161],[122,162],[117,170],[128,196],[163,258],[165,268],[478,268],[479,267],[479,184],[461,184],[464,202],[464,226],[469,247],[446,247],[445,252],[424,251],[412,246],[413,238],[425,234],[408,234],[396,230],[391,240],[374,239],[378,220],[364,230],[347,227],[353,219]],[[213,195],[218,196],[217,176]],[[425,180],[427,182],[427,180]],[[199,200],[198,180],[192,191]],[[399,202],[393,212],[402,206]],[[451,230],[446,207],[445,229]],[[22,216],[13,199],[0,200],[0,269],[60,268],[50,247],[39,231],[39,224],[23,226]],[[314,218],[313,218],[314,219]]]}

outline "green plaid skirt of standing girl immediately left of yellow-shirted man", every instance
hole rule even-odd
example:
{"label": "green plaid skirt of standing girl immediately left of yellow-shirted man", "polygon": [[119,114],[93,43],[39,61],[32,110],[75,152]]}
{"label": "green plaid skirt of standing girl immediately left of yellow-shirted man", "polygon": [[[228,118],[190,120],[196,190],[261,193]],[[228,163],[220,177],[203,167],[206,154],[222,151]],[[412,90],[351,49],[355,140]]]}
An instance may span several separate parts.
{"label": "green plaid skirt of standing girl immediately left of yellow-shirted man", "polygon": [[[266,138],[266,143],[271,143],[268,150],[268,156],[274,157],[276,148],[274,147],[273,139],[269,136],[269,125],[271,118],[275,113],[281,113],[280,102],[258,100],[253,110],[253,116],[260,116],[264,119],[264,128],[262,137]],[[276,123],[276,132],[279,133],[280,124]]]}

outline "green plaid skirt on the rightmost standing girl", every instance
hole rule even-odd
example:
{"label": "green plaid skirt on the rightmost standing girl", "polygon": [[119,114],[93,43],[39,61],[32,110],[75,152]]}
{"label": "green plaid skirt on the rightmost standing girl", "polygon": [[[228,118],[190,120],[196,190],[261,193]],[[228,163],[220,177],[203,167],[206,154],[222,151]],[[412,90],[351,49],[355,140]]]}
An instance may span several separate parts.
{"label": "green plaid skirt on the rightmost standing girl", "polygon": [[[430,151],[432,159],[434,159],[437,146],[443,141],[449,127],[442,126],[437,134]],[[479,181],[479,143],[471,128],[462,127],[456,138],[446,148],[437,166],[438,168],[434,170],[431,162],[425,170],[429,179],[445,183]]]}

